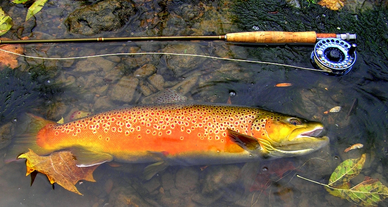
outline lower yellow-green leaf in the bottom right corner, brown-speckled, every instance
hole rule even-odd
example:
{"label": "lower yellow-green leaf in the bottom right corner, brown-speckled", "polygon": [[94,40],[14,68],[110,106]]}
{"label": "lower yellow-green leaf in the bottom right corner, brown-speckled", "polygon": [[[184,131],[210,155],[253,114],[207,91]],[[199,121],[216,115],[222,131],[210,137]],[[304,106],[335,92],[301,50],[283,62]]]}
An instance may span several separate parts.
{"label": "lower yellow-green leaf in the bottom right corner, brown-speckled", "polygon": [[388,187],[378,179],[364,180],[349,190],[338,191],[346,200],[363,207],[377,206],[378,202],[388,197]]}

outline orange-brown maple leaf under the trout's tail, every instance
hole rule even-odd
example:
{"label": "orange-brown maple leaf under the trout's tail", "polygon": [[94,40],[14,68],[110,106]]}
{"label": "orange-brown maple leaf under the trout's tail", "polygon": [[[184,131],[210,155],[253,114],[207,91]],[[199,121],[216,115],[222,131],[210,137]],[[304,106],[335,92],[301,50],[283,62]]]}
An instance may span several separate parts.
{"label": "orange-brown maple leaf under the trout's tail", "polygon": [[[49,156],[38,156],[31,149],[18,157],[27,159],[27,175],[37,171],[47,175],[51,184],[58,183],[68,191],[82,195],[75,184],[79,180],[96,182],[93,178],[93,171],[99,165],[90,167],[78,167],[71,152],[54,152]],[[33,174],[32,174],[33,175]]]}

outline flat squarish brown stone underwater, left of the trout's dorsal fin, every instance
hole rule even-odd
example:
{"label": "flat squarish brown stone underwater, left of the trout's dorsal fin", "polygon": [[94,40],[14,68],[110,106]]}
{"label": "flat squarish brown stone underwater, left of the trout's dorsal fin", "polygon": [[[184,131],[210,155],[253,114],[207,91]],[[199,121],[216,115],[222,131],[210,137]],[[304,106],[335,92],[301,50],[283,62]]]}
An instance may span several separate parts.
{"label": "flat squarish brown stone underwater, left of the trout's dorsal fin", "polygon": [[134,77],[124,76],[110,90],[112,100],[129,103],[135,96],[139,80]]}

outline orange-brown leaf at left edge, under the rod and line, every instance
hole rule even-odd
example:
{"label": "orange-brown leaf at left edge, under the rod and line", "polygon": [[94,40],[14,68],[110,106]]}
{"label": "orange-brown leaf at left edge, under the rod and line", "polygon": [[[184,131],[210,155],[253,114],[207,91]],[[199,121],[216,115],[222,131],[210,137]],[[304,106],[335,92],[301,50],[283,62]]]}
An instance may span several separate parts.
{"label": "orange-brown leaf at left edge, under the rod and line", "polygon": [[[25,39],[28,39],[28,37],[23,37],[21,39],[25,40]],[[0,38],[0,40],[10,40],[10,39],[8,39],[8,38]],[[22,48],[20,45],[4,44],[4,45],[0,45],[0,49],[7,50],[7,51],[10,51],[10,52],[14,52],[14,53],[17,53],[17,54],[22,54],[24,52],[24,48]],[[16,60],[17,57],[19,57],[19,56],[16,55],[16,54],[12,54],[12,53],[4,52],[4,51],[0,50],[0,69],[2,70],[2,68],[3,68],[2,65],[8,66],[8,67],[10,67],[12,69],[14,69],[17,66],[19,66],[19,64],[18,64],[18,62]]]}

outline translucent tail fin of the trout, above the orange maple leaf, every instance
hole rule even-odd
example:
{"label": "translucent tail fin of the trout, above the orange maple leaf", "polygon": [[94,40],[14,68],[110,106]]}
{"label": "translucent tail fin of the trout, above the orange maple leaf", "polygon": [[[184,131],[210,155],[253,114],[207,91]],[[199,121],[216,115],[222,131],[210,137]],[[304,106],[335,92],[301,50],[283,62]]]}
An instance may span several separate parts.
{"label": "translucent tail fin of the trout, above the orange maple leaf", "polygon": [[28,149],[32,149],[38,155],[49,154],[51,151],[38,146],[36,143],[39,130],[48,124],[56,123],[27,113],[22,118],[21,124],[16,126],[16,135],[8,146],[7,154],[4,158],[5,162],[15,161],[20,154],[28,152]]}

